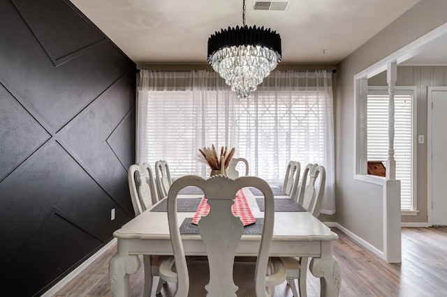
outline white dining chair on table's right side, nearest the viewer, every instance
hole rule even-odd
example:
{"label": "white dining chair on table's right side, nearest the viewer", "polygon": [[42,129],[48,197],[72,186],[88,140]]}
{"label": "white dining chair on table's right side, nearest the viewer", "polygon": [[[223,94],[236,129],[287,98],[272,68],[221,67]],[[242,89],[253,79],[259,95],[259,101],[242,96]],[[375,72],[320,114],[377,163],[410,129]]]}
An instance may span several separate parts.
{"label": "white dining chair on table's right side, nearest the viewer", "polygon": [[[302,172],[298,204],[306,208],[306,210],[316,218],[318,218],[320,213],[325,179],[325,169],[318,164],[308,164]],[[317,180],[319,181],[316,186],[315,183]],[[295,286],[296,279],[298,279],[299,296],[307,296],[307,263],[309,257],[280,257],[280,259],[284,263],[284,266],[286,266],[286,279],[291,286],[293,296],[298,297],[297,288]]]}

